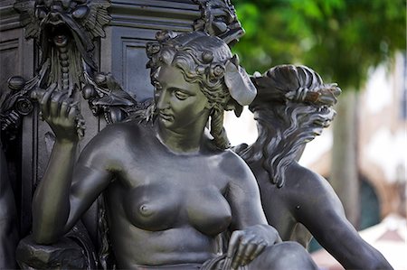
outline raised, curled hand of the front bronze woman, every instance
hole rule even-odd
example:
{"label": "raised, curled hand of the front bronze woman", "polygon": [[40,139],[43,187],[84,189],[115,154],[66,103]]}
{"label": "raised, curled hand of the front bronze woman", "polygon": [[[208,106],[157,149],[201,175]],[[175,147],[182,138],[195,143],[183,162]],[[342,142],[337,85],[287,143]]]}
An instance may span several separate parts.
{"label": "raised, curled hand of the front bronze woman", "polygon": [[32,96],[39,100],[41,116],[51,126],[57,141],[77,142],[85,129],[78,102],[68,98],[68,92],[55,89],[56,84],[52,84],[46,91],[37,89]]}

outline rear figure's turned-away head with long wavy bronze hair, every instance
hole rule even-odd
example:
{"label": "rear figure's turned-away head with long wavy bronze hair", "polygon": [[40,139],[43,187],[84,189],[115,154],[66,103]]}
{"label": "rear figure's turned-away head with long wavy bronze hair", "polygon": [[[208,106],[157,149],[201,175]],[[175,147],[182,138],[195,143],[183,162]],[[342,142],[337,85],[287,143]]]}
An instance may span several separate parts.
{"label": "rear figure's turned-away head with long wavy bronze hair", "polygon": [[289,164],[330,125],[336,115],[332,106],[341,91],[336,84],[324,84],[317,72],[305,66],[277,66],[252,81],[258,95],[249,108],[259,128],[256,144],[263,151],[253,154],[248,148],[241,156],[248,163],[263,158],[270,182],[282,187]]}

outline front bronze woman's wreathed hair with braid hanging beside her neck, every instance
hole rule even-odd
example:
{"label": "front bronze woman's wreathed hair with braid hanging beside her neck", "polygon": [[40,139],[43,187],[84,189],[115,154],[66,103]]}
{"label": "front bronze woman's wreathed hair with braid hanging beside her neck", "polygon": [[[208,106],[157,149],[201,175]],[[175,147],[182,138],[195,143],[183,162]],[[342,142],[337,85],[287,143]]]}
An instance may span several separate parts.
{"label": "front bronze woman's wreathed hair with braid hanging beside her neck", "polygon": [[[147,44],[150,59],[147,67],[151,69],[156,95],[160,95],[160,73],[168,73],[168,70],[174,70],[174,75],[182,74],[185,81],[199,86],[207,100],[205,108],[210,111],[214,143],[219,148],[228,148],[229,140],[222,127],[223,111],[235,110],[240,115],[241,107],[250,104],[256,95],[256,89],[239,66],[237,57],[233,57],[221,39],[202,32],[178,36],[161,32],[156,39],[158,42]],[[171,79],[171,76],[166,77]]]}

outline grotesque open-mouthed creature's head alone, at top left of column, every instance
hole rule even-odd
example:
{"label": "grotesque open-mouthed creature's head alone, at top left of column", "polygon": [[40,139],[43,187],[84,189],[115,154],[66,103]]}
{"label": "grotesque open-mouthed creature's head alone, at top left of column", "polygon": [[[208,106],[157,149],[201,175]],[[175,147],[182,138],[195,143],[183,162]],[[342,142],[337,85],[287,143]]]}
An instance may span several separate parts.
{"label": "grotesque open-mouthed creature's head alone, at top left of column", "polygon": [[91,56],[94,49],[92,41],[105,37],[103,27],[110,21],[110,5],[109,0],[23,0],[17,1],[14,8],[21,14],[25,38],[33,38],[40,45],[43,61],[51,49],[49,41],[63,46],[70,36],[75,40],[81,57],[96,70]]}

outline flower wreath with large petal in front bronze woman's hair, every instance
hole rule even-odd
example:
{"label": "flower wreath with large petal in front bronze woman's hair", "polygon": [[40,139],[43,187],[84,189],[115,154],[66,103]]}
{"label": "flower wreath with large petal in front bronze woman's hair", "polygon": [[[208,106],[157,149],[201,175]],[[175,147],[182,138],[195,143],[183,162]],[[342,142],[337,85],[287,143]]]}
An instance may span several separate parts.
{"label": "flower wreath with large petal in front bronze woman's hair", "polygon": [[[189,35],[189,38],[185,38],[186,35]],[[155,79],[159,64],[162,62],[159,52],[165,45],[170,45],[177,50],[183,46],[183,43],[191,42],[200,36],[218,39],[217,37],[210,36],[200,31],[181,35],[177,35],[172,31],[161,31],[156,33],[157,42],[148,42],[146,48],[147,57],[149,59],[147,62],[147,68],[151,69],[151,79]],[[178,40],[175,40],[175,37],[177,37]],[[195,70],[196,73],[200,75],[204,75],[205,73],[208,74],[208,79],[210,81],[224,78],[225,85],[232,97],[225,109],[234,110],[236,116],[241,116],[243,106],[251,104],[256,97],[257,89],[251,82],[246,70],[239,65],[239,58],[237,55],[222,62],[213,62],[212,51],[203,51],[200,57],[206,66],[198,65]]]}

